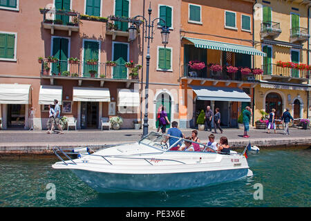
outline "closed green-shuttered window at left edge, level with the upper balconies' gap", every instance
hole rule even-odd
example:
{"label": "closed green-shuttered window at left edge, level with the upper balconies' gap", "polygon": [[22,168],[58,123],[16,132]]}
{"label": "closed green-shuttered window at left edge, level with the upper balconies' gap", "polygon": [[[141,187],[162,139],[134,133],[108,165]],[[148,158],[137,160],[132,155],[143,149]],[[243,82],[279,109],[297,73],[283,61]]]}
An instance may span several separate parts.
{"label": "closed green-shuttered window at left edge, level with the upper balconies' gap", "polygon": [[16,59],[16,33],[0,32],[0,59]]}

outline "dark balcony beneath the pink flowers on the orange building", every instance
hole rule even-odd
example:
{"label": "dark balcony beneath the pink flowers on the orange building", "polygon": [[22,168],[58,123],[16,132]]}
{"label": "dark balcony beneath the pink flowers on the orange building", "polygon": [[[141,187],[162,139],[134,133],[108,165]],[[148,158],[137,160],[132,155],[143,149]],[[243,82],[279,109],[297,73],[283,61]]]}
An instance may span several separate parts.
{"label": "dark balcony beneath the pink flowers on the orange building", "polygon": [[[182,76],[183,79],[188,79],[190,83],[192,80],[200,80],[201,84],[204,84],[205,81],[214,81],[214,85],[218,83],[218,81],[226,81],[226,86],[228,86],[231,82],[241,81],[247,83],[255,83],[256,76],[252,73],[248,75],[243,75],[240,70],[237,73],[227,73],[226,70],[213,72],[209,67],[205,67],[201,70],[193,70],[187,64],[182,65]],[[241,82],[239,82],[241,84]],[[188,83],[188,84],[189,84]]]}

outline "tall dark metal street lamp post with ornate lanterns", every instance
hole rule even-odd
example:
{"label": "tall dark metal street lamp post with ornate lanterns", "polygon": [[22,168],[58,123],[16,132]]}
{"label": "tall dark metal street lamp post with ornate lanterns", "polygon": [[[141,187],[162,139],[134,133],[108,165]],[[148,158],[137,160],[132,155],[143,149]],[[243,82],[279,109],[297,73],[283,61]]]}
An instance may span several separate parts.
{"label": "tall dark metal street lamp post with ornate lanterns", "polygon": [[[149,90],[149,64],[150,64],[150,53],[149,53],[149,50],[150,50],[150,39],[151,39],[151,41],[153,39],[153,27],[154,27],[153,24],[154,24],[154,22],[156,20],[160,20],[160,21],[162,21],[164,23],[164,26],[162,26],[162,30],[161,30],[162,44],[164,45],[164,48],[169,43],[169,28],[166,26],[166,21],[164,21],[161,18],[156,18],[156,19],[153,19],[151,21],[151,12],[152,12],[152,9],[151,9],[151,3],[150,3],[149,4],[149,9],[148,9],[149,20],[147,21],[147,19],[145,19],[143,16],[137,15],[137,16],[133,17],[132,25],[129,28],[129,40],[133,41],[133,40],[135,40],[136,33],[137,33],[137,29],[134,26],[135,21],[137,21],[135,19],[137,19],[138,17],[141,17],[142,19],[144,19],[144,23],[145,23],[145,26],[146,26],[146,30],[145,30],[146,36],[144,38],[145,38],[145,41],[148,41],[148,47],[147,47],[147,56],[146,56],[146,60],[147,60],[146,66],[147,66],[147,69],[146,69],[146,86],[145,86],[145,97],[144,97],[144,102],[145,102],[144,124],[143,124],[143,130],[142,130],[142,135],[143,136],[148,134],[148,126],[149,126],[149,124],[148,124],[148,96],[149,96],[148,90]],[[139,26],[139,25],[140,25],[140,23],[136,23],[136,26]],[[158,26],[158,23],[156,25]]]}

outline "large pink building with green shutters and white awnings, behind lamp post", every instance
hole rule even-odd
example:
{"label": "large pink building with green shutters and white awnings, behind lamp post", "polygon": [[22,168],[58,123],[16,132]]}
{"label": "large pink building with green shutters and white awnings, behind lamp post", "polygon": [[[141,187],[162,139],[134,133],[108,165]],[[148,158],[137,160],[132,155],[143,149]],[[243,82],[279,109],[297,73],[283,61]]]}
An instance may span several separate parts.
{"label": "large pink building with green shutters and white awnings, behind lamp post", "polygon": [[[54,99],[61,115],[75,117],[79,129],[101,128],[102,118],[113,116],[124,119],[122,128],[133,128],[144,115],[147,42],[142,24],[130,41],[128,18],[148,19],[148,8],[144,0],[1,1],[0,20],[6,21],[0,26],[2,128],[45,129]],[[152,1],[151,9],[151,19],[161,17],[171,32],[164,48],[163,20],[160,26],[155,21],[149,69],[152,128],[160,104],[170,119],[178,118],[180,1]],[[126,66],[131,61],[134,68]]]}

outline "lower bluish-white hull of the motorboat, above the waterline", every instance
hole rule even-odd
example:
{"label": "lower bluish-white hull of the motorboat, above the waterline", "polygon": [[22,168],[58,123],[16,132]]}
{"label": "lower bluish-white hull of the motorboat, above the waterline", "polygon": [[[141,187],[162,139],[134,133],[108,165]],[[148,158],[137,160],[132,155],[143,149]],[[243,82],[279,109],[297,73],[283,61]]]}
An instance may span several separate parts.
{"label": "lower bluish-white hull of the motorboat, above the waterline", "polygon": [[191,189],[238,180],[248,173],[248,169],[158,174],[100,173],[79,169],[71,171],[100,193]]}

